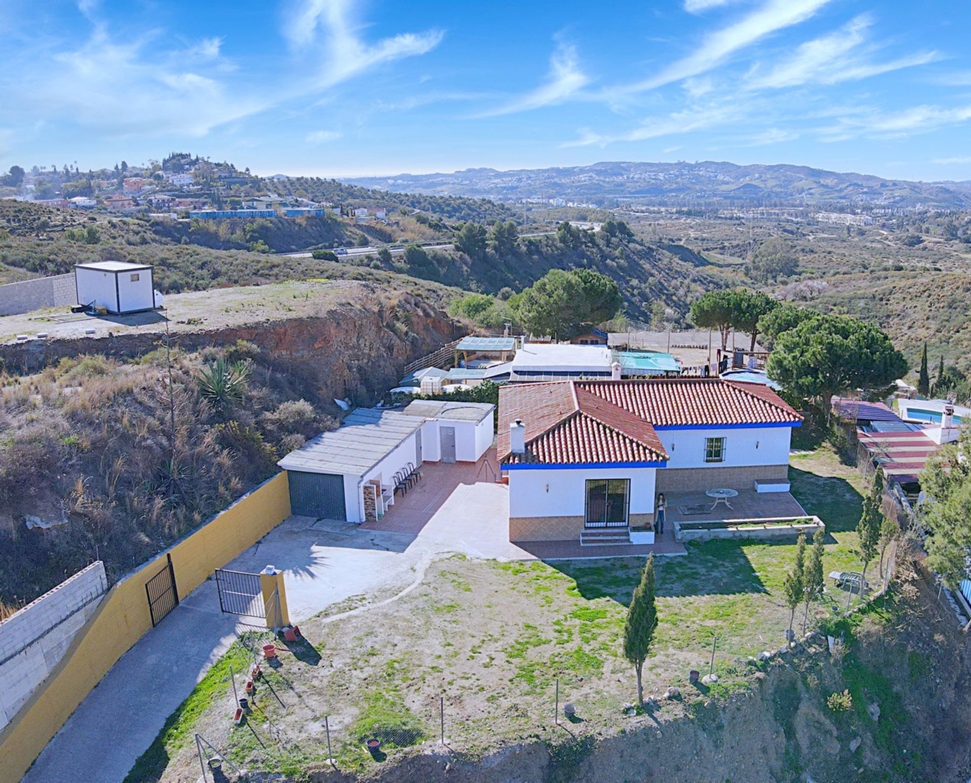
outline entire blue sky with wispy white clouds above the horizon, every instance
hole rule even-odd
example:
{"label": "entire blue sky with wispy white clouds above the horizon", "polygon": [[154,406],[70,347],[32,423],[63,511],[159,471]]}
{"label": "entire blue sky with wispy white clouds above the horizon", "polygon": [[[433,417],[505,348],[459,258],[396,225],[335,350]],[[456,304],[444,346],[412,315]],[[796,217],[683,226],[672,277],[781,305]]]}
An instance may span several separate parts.
{"label": "entire blue sky with wispy white clouds above the horizon", "polygon": [[971,179],[971,3],[0,0],[0,167]]}

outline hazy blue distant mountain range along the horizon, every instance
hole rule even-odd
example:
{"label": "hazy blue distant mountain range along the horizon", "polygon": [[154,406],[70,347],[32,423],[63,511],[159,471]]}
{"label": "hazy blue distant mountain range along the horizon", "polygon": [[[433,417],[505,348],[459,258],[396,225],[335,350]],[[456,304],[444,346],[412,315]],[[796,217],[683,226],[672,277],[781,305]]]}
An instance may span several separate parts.
{"label": "hazy blue distant mountain range along the horizon", "polygon": [[856,204],[869,207],[971,207],[971,181],[912,182],[840,174],[787,164],[605,162],[551,169],[466,169],[452,174],[401,174],[346,181],[383,190],[471,196],[507,203],[527,200],[614,206],[618,202],[688,206]]}

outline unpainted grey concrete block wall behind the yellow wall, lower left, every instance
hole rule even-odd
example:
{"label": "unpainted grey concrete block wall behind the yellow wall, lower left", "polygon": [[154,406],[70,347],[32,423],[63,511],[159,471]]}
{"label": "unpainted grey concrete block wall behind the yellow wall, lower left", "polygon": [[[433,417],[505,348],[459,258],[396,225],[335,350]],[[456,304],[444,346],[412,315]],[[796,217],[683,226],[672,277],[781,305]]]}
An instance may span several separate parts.
{"label": "unpainted grey concrete block wall behind the yellow wall, lower left", "polygon": [[0,623],[0,730],[48,678],[107,591],[98,561]]}

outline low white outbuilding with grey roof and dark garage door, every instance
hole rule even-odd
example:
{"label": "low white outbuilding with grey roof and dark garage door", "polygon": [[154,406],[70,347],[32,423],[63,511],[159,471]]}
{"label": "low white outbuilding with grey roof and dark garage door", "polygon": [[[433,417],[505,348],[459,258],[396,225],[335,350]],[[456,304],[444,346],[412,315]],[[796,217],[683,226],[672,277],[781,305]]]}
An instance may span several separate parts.
{"label": "low white outbuilding with grey roof and dark garage door", "polygon": [[492,444],[494,410],[426,400],[402,410],[357,408],[277,463],[287,473],[290,507],[303,516],[378,519],[393,506],[401,476],[423,462],[477,462]]}

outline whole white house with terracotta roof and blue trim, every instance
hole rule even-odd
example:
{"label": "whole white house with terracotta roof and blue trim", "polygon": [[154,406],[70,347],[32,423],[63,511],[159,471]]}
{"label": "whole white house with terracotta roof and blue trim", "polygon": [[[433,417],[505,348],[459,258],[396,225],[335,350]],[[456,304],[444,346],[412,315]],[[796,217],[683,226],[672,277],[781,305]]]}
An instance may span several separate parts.
{"label": "whole white house with terracotta roof and blue trim", "polygon": [[503,386],[497,457],[509,481],[510,540],[650,529],[658,493],[788,493],[789,443],[801,423],[760,383],[671,378]]}

